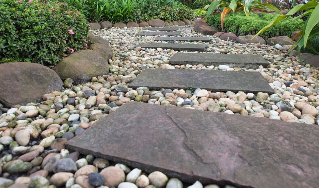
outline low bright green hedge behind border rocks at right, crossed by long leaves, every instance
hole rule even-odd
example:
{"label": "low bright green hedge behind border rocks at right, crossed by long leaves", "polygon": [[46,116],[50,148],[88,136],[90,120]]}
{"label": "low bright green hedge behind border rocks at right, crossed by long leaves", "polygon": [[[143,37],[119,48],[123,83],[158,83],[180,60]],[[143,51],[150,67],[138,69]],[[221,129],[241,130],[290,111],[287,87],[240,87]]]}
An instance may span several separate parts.
{"label": "low bright green hedge behind border rocks at right, crossed by long leaves", "polygon": [[[224,30],[225,32],[234,33],[237,36],[255,35],[277,16],[278,14],[270,13],[250,13],[249,16],[246,16],[244,13],[230,13],[224,19]],[[211,15],[207,22],[209,25],[221,30],[220,14]],[[268,28],[259,36],[265,40],[270,37],[289,36],[291,31],[302,29],[303,25],[298,25],[301,22],[301,19],[293,20],[292,17],[288,17]]]}

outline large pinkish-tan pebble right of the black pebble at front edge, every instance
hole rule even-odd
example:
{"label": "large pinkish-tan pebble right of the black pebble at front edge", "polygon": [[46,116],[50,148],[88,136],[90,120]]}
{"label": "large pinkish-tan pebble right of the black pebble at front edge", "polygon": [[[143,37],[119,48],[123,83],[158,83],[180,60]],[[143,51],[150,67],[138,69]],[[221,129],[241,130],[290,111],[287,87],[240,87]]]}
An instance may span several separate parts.
{"label": "large pinkish-tan pebble right of the black pebble at front edge", "polygon": [[103,169],[100,172],[100,174],[104,176],[105,178],[104,185],[108,187],[112,187],[112,186],[117,187],[120,183],[125,181],[124,171],[115,166],[109,166]]}

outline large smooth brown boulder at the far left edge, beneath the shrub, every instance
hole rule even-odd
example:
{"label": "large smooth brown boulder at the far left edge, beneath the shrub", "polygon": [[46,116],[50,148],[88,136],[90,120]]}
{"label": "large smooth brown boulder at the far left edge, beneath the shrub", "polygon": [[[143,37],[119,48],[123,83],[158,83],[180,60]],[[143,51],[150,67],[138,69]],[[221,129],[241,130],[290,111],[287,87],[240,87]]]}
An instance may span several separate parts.
{"label": "large smooth brown boulder at the far left edge, beneath the shrub", "polygon": [[0,64],[0,103],[38,103],[42,95],[60,91],[63,82],[52,69],[37,63],[11,62]]}

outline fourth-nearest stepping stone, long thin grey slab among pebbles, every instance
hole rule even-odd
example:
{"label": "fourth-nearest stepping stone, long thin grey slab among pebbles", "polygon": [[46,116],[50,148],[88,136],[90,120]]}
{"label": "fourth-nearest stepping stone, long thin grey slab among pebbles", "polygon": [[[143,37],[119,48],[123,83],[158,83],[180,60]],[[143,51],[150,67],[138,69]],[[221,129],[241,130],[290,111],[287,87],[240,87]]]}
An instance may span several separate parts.
{"label": "fourth-nearest stepping stone, long thin grey slab among pebbles", "polygon": [[204,44],[171,44],[171,43],[145,43],[137,45],[142,48],[162,48],[163,50],[171,49],[171,50],[188,50],[188,51],[204,51]]}

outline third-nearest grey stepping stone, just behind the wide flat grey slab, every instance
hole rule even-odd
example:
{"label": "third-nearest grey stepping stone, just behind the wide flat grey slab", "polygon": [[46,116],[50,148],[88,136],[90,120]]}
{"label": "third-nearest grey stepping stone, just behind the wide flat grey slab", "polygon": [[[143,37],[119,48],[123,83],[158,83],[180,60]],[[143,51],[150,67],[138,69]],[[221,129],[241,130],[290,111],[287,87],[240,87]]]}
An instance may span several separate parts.
{"label": "third-nearest grey stepping stone, just behind the wide flat grey slab", "polygon": [[[168,38],[168,37],[167,37]],[[229,67],[245,67],[247,69],[258,69],[259,65],[269,65],[262,56],[243,54],[210,54],[210,53],[175,53],[169,64],[191,64],[204,66],[228,65]]]}

